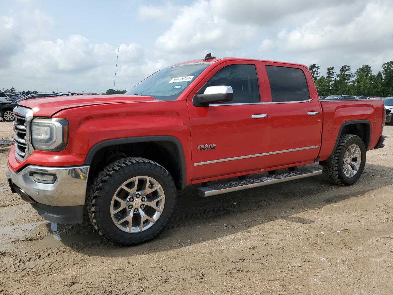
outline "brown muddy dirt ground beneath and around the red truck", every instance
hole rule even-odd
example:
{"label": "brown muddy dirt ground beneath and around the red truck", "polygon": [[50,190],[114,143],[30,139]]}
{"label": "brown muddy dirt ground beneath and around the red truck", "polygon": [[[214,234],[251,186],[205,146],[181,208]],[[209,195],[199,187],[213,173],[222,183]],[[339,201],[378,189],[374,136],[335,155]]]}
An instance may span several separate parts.
{"label": "brown muddy dirt ground beneath and around the red truck", "polygon": [[[9,129],[0,122],[1,140]],[[353,186],[318,176],[204,199],[191,186],[167,229],[136,247],[110,245],[87,218],[68,226],[40,218],[11,194],[7,149],[0,150],[2,295],[393,293],[392,137],[367,153]]]}

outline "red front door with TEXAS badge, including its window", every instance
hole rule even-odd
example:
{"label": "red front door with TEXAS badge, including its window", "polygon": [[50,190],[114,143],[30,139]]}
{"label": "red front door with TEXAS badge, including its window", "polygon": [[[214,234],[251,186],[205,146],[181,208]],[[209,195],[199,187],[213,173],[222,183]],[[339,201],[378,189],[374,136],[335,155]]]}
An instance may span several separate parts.
{"label": "red front door with TEXAS badge, including its window", "polygon": [[[193,103],[195,93],[217,85],[231,86],[233,101],[203,107]],[[260,103],[262,87],[252,62],[227,62],[217,66],[191,92],[187,105],[193,180],[263,168],[270,118],[261,116],[269,113],[269,105]]]}

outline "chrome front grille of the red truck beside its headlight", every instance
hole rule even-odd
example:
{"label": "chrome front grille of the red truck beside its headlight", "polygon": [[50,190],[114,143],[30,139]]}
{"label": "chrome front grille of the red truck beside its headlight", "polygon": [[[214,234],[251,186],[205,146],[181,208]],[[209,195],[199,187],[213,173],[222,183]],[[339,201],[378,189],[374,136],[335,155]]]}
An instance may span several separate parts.
{"label": "chrome front grille of the red truck beside its headlight", "polygon": [[15,157],[22,162],[33,152],[29,138],[29,127],[30,121],[33,119],[33,111],[17,106],[13,112],[15,115],[15,121],[13,122]]}

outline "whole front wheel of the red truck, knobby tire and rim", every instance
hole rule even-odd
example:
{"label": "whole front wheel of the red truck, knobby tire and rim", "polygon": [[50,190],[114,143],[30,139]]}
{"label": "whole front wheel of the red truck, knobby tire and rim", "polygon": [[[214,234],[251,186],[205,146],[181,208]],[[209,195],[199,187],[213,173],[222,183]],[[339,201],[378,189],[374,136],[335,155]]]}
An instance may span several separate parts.
{"label": "whole front wheel of the red truck, knobby tire and rim", "polygon": [[168,171],[148,159],[129,157],[109,164],[94,181],[88,214],[108,241],[137,245],[167,225],[176,200]]}

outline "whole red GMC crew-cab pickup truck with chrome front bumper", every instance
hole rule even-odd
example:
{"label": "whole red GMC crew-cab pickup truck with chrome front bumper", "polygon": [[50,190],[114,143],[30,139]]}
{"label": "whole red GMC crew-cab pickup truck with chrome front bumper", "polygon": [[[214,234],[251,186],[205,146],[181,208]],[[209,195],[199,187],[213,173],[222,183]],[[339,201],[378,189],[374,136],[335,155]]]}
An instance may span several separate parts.
{"label": "whole red GMC crew-cab pickup truck with chrome front bumper", "polygon": [[86,205],[105,239],[135,245],[165,228],[189,184],[208,197],[321,173],[355,183],[384,146],[385,112],[381,100],[320,101],[304,65],[207,55],[124,95],[22,101],[7,178],[43,218],[78,223]]}

